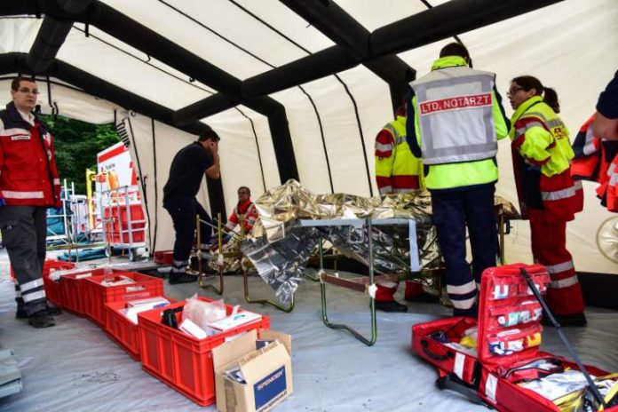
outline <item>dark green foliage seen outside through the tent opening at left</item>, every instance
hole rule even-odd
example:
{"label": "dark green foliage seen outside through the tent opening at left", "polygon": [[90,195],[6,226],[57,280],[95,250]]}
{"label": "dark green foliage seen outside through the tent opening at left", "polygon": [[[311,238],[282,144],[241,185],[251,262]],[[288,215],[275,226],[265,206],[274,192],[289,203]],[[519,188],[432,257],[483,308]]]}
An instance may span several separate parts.
{"label": "dark green foliage seen outside through the tent opening at left", "polygon": [[60,179],[75,183],[75,194],[86,194],[86,168],[97,170],[97,153],[120,141],[114,125],[92,124],[65,116],[43,115],[52,131]]}

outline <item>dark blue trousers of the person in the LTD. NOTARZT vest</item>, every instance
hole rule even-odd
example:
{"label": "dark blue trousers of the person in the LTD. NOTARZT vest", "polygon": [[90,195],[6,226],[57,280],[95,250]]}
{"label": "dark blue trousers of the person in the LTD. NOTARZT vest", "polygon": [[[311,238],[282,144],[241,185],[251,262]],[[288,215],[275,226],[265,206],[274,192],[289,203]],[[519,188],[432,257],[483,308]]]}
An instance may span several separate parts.
{"label": "dark blue trousers of the person in the LTD. NOTARZT vest", "polygon": [[[494,210],[495,185],[449,192],[432,191],[432,220],[438,230],[446,264],[448,297],[455,315],[475,315],[477,284],[487,267],[495,266],[498,234]],[[472,270],[466,261],[466,226]]]}

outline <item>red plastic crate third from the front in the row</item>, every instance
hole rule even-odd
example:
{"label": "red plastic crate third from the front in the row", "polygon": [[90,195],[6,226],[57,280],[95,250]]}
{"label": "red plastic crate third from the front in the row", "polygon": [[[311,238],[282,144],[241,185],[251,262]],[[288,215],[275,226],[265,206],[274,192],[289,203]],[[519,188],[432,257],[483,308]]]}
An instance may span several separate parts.
{"label": "red plastic crate third from the front in the row", "polygon": [[[101,281],[114,278],[122,274],[136,281],[130,285],[105,287]],[[105,276],[93,276],[86,278],[86,315],[91,321],[105,329],[106,314],[105,304],[107,302],[126,302],[128,300],[145,299],[147,297],[157,297],[163,295],[163,281],[146,274],[136,272],[113,273]]]}

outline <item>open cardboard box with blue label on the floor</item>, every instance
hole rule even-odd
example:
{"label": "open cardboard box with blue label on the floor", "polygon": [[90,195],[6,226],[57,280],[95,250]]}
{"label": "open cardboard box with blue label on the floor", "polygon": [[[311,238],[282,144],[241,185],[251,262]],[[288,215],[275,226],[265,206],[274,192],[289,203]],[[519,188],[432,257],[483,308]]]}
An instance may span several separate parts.
{"label": "open cardboard box with blue label on the floor", "polygon": [[[217,409],[221,412],[265,412],[292,394],[291,337],[261,330],[260,340],[272,343],[256,349],[256,330],[237,337],[212,350],[217,392]],[[245,383],[234,380],[228,372],[239,369]]]}

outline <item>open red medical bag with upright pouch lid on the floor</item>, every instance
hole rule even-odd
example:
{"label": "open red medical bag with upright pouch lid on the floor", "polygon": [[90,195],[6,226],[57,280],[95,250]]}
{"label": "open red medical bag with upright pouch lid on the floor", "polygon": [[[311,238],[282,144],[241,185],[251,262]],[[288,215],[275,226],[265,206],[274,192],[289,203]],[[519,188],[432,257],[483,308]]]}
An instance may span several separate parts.
{"label": "open red medical bag with upright pouch lid on the floor", "polygon": [[[521,274],[522,268],[536,289],[541,293],[547,289],[550,276],[543,265],[487,269],[480,283],[476,351],[460,343],[465,332],[477,325],[477,320],[464,317],[414,325],[412,350],[438,368],[441,389],[463,393],[477,403],[513,412],[575,410],[561,409],[554,401],[518,384],[578,370],[574,361],[539,350],[543,310]],[[599,368],[585,368],[592,376],[608,375]],[[604,410],[615,412],[618,406]]]}

